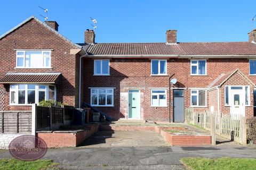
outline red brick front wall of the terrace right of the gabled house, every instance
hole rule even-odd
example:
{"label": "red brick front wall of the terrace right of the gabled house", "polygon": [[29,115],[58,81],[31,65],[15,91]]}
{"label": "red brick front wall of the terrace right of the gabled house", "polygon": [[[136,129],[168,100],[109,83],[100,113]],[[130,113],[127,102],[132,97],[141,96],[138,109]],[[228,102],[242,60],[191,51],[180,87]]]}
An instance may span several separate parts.
{"label": "red brick front wall of the terrace right of the gabled house", "polygon": [[[235,69],[241,70],[253,82],[256,77],[249,76],[249,60],[247,59],[209,59],[206,61],[207,75],[190,75],[190,60],[171,58],[167,60],[168,76],[150,76],[151,62],[149,59],[110,59],[110,76],[93,76],[93,60],[83,59],[83,101],[90,103],[89,87],[114,87],[114,107],[98,107],[101,111],[118,119],[127,117],[127,92],[137,88],[141,95],[141,117],[148,121],[169,121],[169,107],[150,107],[149,88],[169,88],[169,77],[178,80],[173,87],[186,88],[184,91],[184,107],[190,106],[190,89],[207,88],[221,73],[228,73]],[[173,91],[171,90],[171,120],[173,118]],[[252,97],[252,95],[251,95]],[[169,106],[169,90],[167,89],[167,106]],[[221,96],[221,99],[224,99]],[[195,108],[207,109],[209,106],[209,94],[207,94],[207,107]],[[251,108],[250,108],[251,109]],[[251,113],[250,110],[250,114]]]}

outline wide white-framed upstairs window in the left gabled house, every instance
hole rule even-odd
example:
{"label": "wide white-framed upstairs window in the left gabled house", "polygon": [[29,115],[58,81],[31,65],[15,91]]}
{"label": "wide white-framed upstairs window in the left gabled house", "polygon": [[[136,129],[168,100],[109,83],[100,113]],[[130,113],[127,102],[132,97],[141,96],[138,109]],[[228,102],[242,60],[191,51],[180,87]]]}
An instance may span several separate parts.
{"label": "wide white-framed upstairs window in the left gabled house", "polygon": [[51,51],[17,50],[16,68],[45,69],[51,68]]}

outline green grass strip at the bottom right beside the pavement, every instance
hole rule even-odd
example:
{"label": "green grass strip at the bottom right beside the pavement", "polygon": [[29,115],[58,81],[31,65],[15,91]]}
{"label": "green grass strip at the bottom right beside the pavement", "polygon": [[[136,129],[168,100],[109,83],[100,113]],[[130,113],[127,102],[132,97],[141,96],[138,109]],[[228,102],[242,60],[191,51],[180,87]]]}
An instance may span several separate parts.
{"label": "green grass strip at the bottom right beside the pavement", "polygon": [[248,158],[181,158],[181,162],[187,169],[194,170],[250,170],[256,169],[256,159]]}

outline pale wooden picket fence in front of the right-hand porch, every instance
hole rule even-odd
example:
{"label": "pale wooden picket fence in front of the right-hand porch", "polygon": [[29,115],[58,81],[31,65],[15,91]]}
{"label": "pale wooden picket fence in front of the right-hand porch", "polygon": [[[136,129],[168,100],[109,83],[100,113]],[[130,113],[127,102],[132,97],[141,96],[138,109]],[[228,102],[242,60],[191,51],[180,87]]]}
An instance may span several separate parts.
{"label": "pale wooden picket fence in front of the right-hand porch", "polygon": [[[211,119],[213,120],[212,123]],[[244,116],[211,113],[209,111],[194,112],[193,108],[187,108],[185,109],[185,121],[206,130],[214,130],[214,133],[222,137],[246,145],[246,120]]]}

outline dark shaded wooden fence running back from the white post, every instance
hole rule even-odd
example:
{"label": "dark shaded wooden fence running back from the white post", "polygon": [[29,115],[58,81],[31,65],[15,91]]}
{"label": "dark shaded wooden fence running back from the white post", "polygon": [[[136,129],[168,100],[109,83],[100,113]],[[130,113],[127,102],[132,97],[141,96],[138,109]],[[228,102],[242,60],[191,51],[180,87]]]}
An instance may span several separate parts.
{"label": "dark shaded wooden fence running back from the white post", "polygon": [[36,106],[36,130],[58,130],[60,126],[73,123],[73,106],[43,107]]}

